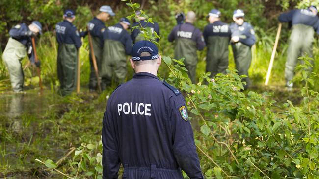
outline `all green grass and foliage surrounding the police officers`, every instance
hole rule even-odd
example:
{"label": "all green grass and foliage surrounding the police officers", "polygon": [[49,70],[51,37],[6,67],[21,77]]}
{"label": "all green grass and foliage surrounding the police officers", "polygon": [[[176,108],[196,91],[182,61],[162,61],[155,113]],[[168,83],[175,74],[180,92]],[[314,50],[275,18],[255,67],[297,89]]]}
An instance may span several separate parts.
{"label": "all green grass and foliage surrounding the police officers", "polygon": [[[29,19],[49,14],[41,16],[40,21],[46,22],[47,29],[50,29],[61,20],[62,9],[73,1],[17,2],[18,8],[35,9]],[[294,5],[309,5],[306,0],[271,2],[278,10],[274,14]],[[13,8],[14,1],[0,3],[6,4],[8,9],[12,8],[12,12],[20,12],[18,8]],[[313,3],[318,5],[317,1]],[[138,6],[135,4],[133,7]],[[133,9],[126,7],[124,2],[117,7],[120,7],[117,15],[107,24],[114,24],[120,17],[133,14]],[[173,45],[166,38],[176,23],[174,14],[194,10],[198,15],[196,25],[203,29],[207,23],[204,17],[213,7],[220,8],[226,22],[231,22],[235,8],[243,8],[247,12],[247,20],[255,26],[258,42],[253,47],[253,62],[249,71],[253,88],[245,93],[240,92],[242,84],[234,73],[232,54],[229,74],[211,79],[204,73],[205,50],[199,52],[198,84],[189,83],[186,72],[181,68],[183,59],[170,58],[173,57]],[[76,24],[83,28],[93,17],[90,7],[81,4],[76,8]],[[263,85],[277,30],[276,16],[261,16],[267,14],[265,9],[266,2],[255,0],[217,0],[214,3],[207,0],[184,0],[180,3],[175,0],[149,0],[145,4],[146,14],[161,27],[160,51],[165,57],[159,76],[175,84],[185,94],[198,154],[207,179],[313,179],[319,176],[319,95],[316,92],[319,90],[316,85],[319,67],[316,63],[312,74],[303,70],[307,63],[298,67],[295,79],[297,88],[291,92],[285,90],[283,69],[289,29],[284,28],[270,85]],[[23,14],[16,19],[10,13],[2,16],[11,17],[8,19],[10,22],[25,18]],[[1,28],[9,29],[5,28],[4,22],[0,24]],[[61,178],[64,175],[65,178],[101,178],[101,122],[108,95],[115,84],[102,94],[87,93],[89,62],[85,38],[80,49],[81,94],[62,98],[56,95],[59,84],[56,76],[56,41],[52,32],[45,32],[38,41],[38,47],[46,86],[44,94],[37,93],[38,79],[33,67],[25,70],[27,94],[8,92],[8,73],[0,60],[0,107],[3,107],[0,111],[0,177]],[[317,49],[316,42],[314,59],[318,59]],[[27,64],[27,59],[23,64]],[[132,75],[132,69],[128,68],[127,78]],[[33,88],[35,90],[30,90]],[[17,107],[19,105],[22,107]],[[45,166],[35,159],[44,162]]]}

